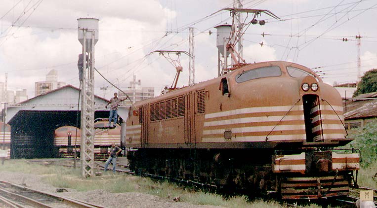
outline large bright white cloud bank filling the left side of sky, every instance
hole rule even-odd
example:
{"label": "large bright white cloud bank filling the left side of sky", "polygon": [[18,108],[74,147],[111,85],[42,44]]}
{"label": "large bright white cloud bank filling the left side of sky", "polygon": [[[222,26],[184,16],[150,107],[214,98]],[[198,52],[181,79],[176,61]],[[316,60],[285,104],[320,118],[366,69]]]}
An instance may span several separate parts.
{"label": "large bright white cloud bank filling the left side of sky", "polygon": [[[99,41],[95,47],[96,67],[108,65],[100,71],[110,81],[125,81],[123,76],[126,71],[132,70],[127,64],[149,53],[148,48],[143,48],[148,40],[164,35],[153,31],[166,30],[165,13],[170,12],[171,18],[176,15],[174,11],[163,8],[157,0],[147,1],[108,0],[108,4],[101,0],[44,1],[25,25],[42,25],[63,30],[13,27],[13,36],[9,36],[6,41],[5,38],[0,38],[0,44],[3,42],[0,47],[0,67],[9,71],[8,87],[24,86],[22,88],[28,89],[29,96],[34,96],[34,82],[43,81],[50,69],[58,71],[59,81],[79,85],[76,62],[82,46],[77,39],[77,31],[70,29],[77,28],[77,18],[87,16],[84,10],[89,11],[89,17],[100,19]],[[8,5],[2,6],[0,13],[5,13],[5,8],[12,7],[11,3],[6,2]],[[16,7],[13,12],[18,14],[20,10]],[[6,18],[11,20],[11,15],[6,15],[4,21]],[[6,25],[4,22],[3,24]],[[96,86],[104,84],[102,78],[96,76],[96,80],[99,80]],[[144,83],[149,83],[149,80],[146,79]]]}

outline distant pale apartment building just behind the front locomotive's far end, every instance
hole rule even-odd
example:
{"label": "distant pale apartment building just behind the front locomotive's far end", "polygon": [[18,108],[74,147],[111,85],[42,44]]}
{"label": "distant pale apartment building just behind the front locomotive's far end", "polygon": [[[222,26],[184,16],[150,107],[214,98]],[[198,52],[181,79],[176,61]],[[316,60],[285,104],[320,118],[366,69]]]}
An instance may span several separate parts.
{"label": "distant pale apartment building just behind the front locomotive's far end", "polygon": [[[136,81],[136,76],[133,76],[133,81],[129,82],[129,87],[126,90],[123,90],[129,98],[136,103],[149,98],[155,97],[155,88],[154,87],[142,87],[141,80]],[[119,98],[126,98],[126,95],[122,92],[119,92]],[[124,101],[126,106],[131,105],[131,102],[127,99]]]}

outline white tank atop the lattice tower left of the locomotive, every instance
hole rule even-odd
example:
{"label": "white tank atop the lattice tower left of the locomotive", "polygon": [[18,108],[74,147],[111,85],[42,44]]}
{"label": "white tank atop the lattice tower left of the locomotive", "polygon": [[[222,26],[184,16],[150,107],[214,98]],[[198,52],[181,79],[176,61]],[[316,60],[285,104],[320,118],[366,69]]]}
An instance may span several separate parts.
{"label": "white tank atop the lattice tower left of the locomotive", "polygon": [[98,21],[99,19],[96,18],[79,18],[77,19],[79,28],[78,28],[78,34],[79,34],[79,41],[84,46],[84,30],[85,32],[85,38],[86,38],[86,48],[87,51],[91,50],[91,39],[92,39],[92,33],[91,31],[94,31],[94,45],[98,41]]}

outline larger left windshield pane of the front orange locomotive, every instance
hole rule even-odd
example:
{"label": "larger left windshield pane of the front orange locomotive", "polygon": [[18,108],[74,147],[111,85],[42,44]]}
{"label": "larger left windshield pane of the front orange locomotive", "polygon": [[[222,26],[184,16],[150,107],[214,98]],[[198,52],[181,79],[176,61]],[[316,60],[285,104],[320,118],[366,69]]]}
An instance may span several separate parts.
{"label": "larger left windshield pane of the front orange locomotive", "polygon": [[278,66],[261,67],[244,71],[236,76],[236,82],[246,82],[251,79],[273,77],[282,75],[282,71]]}

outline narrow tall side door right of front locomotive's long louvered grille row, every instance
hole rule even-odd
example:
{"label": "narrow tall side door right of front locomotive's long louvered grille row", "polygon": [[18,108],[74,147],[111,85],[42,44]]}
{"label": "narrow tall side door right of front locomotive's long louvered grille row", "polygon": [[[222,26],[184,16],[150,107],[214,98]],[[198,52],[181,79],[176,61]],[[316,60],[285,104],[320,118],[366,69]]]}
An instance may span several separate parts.
{"label": "narrow tall side door right of front locomotive's long louvered grille row", "polygon": [[194,93],[189,92],[185,96],[185,143],[192,147],[192,142],[195,143],[195,102]]}

